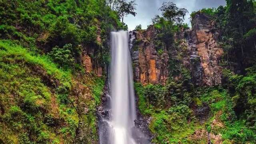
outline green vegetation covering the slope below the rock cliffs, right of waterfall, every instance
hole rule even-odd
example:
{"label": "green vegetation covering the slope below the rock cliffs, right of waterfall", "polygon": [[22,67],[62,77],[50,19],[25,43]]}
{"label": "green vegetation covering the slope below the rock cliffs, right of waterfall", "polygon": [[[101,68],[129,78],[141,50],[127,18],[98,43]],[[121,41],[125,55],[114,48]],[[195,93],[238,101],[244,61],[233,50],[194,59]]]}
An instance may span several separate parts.
{"label": "green vegetation covering the slope below the rock cliffs, right of waterfall", "polygon": [[[164,97],[163,92],[166,86],[154,86],[152,84],[142,86],[139,83],[135,83],[134,86],[139,97],[140,112],[152,117],[150,130],[156,135],[152,142],[158,144],[207,143],[206,136],[196,137],[194,135],[194,132],[202,130],[215,135],[221,134],[222,139],[227,144],[230,142],[256,142],[254,129],[248,127],[242,117],[237,117],[234,109],[234,98],[222,87],[195,89],[194,95],[190,95],[191,101],[182,104],[182,101],[179,100],[180,96],[174,97],[176,101],[168,102],[169,99]],[[166,104],[158,106],[154,101],[152,103],[148,100],[148,94],[158,97],[157,101],[161,101],[161,104]],[[183,94],[183,96],[185,95],[188,94]],[[202,104],[210,106],[210,113],[203,123],[200,122],[200,116],[196,115],[196,110],[191,107],[196,105],[197,108],[201,108]],[[253,120],[251,121],[253,122]]]}

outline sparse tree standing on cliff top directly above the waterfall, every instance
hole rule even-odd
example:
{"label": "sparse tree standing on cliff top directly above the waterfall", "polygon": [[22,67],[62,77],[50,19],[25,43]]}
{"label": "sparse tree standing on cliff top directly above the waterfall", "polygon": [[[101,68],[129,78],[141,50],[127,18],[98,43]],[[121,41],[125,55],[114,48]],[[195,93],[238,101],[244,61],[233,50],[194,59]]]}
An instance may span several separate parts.
{"label": "sparse tree standing on cliff top directly above the waterfall", "polygon": [[116,11],[118,16],[121,18],[122,22],[124,22],[124,16],[128,14],[132,14],[136,16],[136,5],[134,0],[127,2],[126,0],[106,0],[106,4],[110,7],[111,10]]}

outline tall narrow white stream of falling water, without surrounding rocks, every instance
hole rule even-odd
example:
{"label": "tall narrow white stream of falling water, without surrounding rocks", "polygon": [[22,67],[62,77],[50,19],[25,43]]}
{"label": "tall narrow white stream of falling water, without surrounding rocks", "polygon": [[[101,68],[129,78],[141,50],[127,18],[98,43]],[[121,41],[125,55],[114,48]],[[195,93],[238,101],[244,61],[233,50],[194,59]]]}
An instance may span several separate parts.
{"label": "tall narrow white stream of falling water, without surrounding rocks", "polygon": [[111,144],[136,144],[132,138],[136,107],[128,42],[128,32],[111,32]]}

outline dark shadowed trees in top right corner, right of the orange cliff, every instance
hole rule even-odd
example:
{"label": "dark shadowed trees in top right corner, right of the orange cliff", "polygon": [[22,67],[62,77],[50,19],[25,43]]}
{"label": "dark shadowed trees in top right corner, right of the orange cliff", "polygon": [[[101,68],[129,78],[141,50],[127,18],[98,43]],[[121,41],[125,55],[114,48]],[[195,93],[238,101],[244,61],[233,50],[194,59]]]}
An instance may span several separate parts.
{"label": "dark shadowed trees in top right corner, right of the orange cliff", "polygon": [[[252,48],[255,49],[254,44],[248,44],[244,39],[246,34],[253,28],[255,28],[255,12],[253,0],[226,0],[227,6],[224,8],[224,14],[220,14],[224,20],[222,23],[222,32],[225,41],[232,40],[232,49],[228,50],[228,54],[231,56],[232,61],[236,61],[245,67],[250,58]],[[221,10],[221,9],[217,9]],[[217,16],[219,13],[217,11]],[[219,19],[219,16],[216,18]],[[253,31],[247,34],[252,35]],[[252,37],[253,38],[253,37]],[[247,60],[246,60],[247,59]],[[244,69],[244,68],[242,68]],[[244,70],[242,70],[244,71]]]}

